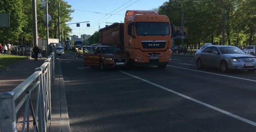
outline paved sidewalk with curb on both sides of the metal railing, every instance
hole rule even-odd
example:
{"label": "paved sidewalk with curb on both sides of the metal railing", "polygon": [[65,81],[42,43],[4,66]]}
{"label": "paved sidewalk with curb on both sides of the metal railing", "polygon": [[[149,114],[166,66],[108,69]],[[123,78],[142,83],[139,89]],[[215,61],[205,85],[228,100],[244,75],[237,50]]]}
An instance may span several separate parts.
{"label": "paved sidewalk with curb on both sides of the metal railing", "polygon": [[[47,58],[38,58],[38,61],[34,61],[34,59],[26,59],[9,67],[0,69],[0,93],[13,90],[22,81],[32,75],[32,73],[35,72],[34,69],[40,67],[46,59]],[[23,117],[18,118],[18,120],[20,121],[22,118]],[[51,121],[48,121],[47,126],[47,132],[70,131],[66,95],[59,61],[57,61],[55,64],[55,82],[52,97],[52,119]],[[21,131],[21,127],[21,124],[17,124],[18,132]]]}

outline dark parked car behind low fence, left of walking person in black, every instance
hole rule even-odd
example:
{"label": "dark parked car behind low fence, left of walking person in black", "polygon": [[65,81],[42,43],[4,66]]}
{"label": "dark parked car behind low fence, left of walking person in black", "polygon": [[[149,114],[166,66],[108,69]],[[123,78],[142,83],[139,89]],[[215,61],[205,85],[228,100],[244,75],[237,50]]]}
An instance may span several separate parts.
{"label": "dark parked car behind low fence, left of walking person in black", "polygon": [[27,45],[13,45],[11,47],[11,53],[12,54],[30,54],[32,52],[31,48],[28,47]]}

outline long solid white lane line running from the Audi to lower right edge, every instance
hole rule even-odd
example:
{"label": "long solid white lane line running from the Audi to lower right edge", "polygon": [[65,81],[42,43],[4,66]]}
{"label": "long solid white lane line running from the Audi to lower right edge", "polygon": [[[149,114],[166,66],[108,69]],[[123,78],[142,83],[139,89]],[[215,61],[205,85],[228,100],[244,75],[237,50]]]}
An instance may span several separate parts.
{"label": "long solid white lane line running from the Audi to lower right edge", "polygon": [[[120,70],[119,70],[119,71],[120,71]],[[213,109],[213,110],[216,110],[216,111],[219,111],[219,112],[221,112],[221,113],[224,113],[224,114],[226,114],[226,115],[228,115],[228,116],[231,116],[231,117],[233,117],[233,118],[236,118],[236,119],[238,119],[238,120],[240,120],[240,121],[243,121],[243,122],[245,122],[245,123],[248,123],[248,124],[250,124],[250,125],[256,126],[256,123],[255,123],[255,122],[250,121],[250,120],[248,120],[248,119],[245,119],[245,118],[243,118],[243,117],[241,117],[241,116],[232,114],[232,113],[227,112],[227,111],[225,111],[225,110],[219,109],[219,108],[214,107],[214,106],[209,105],[209,104],[206,104],[206,103],[204,103],[204,102],[202,102],[202,101],[199,101],[199,100],[196,100],[196,99],[194,99],[194,98],[191,98],[191,97],[189,97],[189,96],[182,95],[182,94],[180,94],[180,93],[178,93],[178,92],[175,92],[175,91],[170,90],[170,89],[168,89],[168,88],[166,88],[166,87],[160,86],[160,85],[158,85],[158,84],[156,84],[156,83],[147,81],[147,80],[145,80],[145,79],[139,78],[139,77],[134,76],[134,75],[132,75],[132,74],[129,74],[129,73],[126,73],[126,72],[123,72],[123,71],[120,71],[120,72],[122,72],[122,73],[124,73],[124,74],[126,74],[126,75],[129,75],[129,76],[131,76],[131,77],[137,78],[137,79],[139,79],[139,80],[141,80],[141,81],[145,81],[145,82],[147,82],[147,83],[149,83],[149,84],[152,84],[152,85],[154,85],[154,86],[157,86],[157,87],[159,87],[159,88],[161,88],[161,89],[164,89],[164,90],[166,90],[166,91],[169,91],[169,92],[171,92],[171,93],[173,93],[173,94],[179,95],[179,96],[181,96],[181,97],[184,97],[184,98],[186,98],[186,99],[189,99],[189,100],[191,100],[191,101],[194,101],[194,102],[196,102],[196,103],[199,103],[199,104],[201,104],[201,105],[203,105],[203,106],[206,106],[206,107],[208,107],[208,108],[211,108],[211,109]]]}

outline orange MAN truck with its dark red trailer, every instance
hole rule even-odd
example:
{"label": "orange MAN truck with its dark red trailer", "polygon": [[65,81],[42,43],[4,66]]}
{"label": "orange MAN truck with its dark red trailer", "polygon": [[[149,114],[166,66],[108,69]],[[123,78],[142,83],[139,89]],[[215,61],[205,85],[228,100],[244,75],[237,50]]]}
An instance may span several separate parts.
{"label": "orange MAN truck with its dark red trailer", "polygon": [[124,23],[99,30],[100,42],[117,45],[135,65],[165,68],[171,61],[171,29],[168,17],[156,11],[127,10]]}

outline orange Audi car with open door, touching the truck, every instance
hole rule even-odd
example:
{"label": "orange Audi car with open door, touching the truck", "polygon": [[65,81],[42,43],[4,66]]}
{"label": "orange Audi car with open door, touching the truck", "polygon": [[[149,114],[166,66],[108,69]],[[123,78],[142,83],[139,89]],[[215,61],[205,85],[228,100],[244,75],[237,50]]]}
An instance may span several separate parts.
{"label": "orange Audi car with open door, touching the truck", "polygon": [[84,66],[100,66],[100,69],[112,68],[117,66],[127,66],[129,57],[115,46],[94,47],[91,52],[84,53]]}

